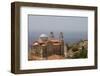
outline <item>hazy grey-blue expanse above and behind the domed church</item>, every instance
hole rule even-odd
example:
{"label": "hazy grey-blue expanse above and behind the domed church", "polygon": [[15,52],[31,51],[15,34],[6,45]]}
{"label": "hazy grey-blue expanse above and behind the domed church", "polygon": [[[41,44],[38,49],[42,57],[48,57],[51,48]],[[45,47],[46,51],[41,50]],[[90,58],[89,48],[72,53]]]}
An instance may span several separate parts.
{"label": "hazy grey-blue expanse above and behind the domed church", "polygon": [[49,35],[54,32],[58,37],[59,32],[64,33],[66,42],[74,42],[79,39],[87,39],[88,18],[75,16],[28,16],[28,41],[31,44],[37,40],[40,34]]}

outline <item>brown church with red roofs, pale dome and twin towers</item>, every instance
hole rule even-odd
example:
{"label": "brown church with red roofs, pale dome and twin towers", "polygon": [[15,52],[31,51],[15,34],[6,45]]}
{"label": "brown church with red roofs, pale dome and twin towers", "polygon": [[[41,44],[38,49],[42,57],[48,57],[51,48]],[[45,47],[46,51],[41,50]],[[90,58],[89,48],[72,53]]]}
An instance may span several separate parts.
{"label": "brown church with red roofs, pale dome and twin towers", "polygon": [[55,38],[53,32],[50,32],[49,36],[41,34],[39,39],[32,43],[31,49],[34,54],[40,56],[41,59],[46,59],[52,55],[60,55],[64,57],[63,33],[60,32],[59,38]]}

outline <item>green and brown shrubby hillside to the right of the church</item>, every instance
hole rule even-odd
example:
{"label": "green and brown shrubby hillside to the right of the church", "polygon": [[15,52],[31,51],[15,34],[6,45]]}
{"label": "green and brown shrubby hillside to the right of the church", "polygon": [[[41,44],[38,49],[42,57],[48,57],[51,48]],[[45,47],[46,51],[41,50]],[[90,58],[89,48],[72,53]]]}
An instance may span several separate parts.
{"label": "green and brown shrubby hillside to the right of the church", "polygon": [[80,41],[68,47],[68,58],[87,58],[87,41]]}

